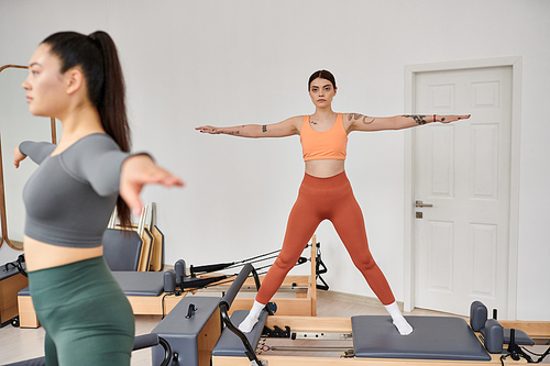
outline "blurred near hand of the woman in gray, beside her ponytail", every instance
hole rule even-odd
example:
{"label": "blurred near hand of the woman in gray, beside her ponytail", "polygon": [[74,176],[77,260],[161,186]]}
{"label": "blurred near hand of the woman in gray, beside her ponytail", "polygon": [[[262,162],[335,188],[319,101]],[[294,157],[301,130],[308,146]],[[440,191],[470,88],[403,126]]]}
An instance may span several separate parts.
{"label": "blurred near hand of the woman in gray, beside her ponytail", "polygon": [[122,164],[119,193],[134,215],[140,215],[143,209],[140,192],[145,185],[184,187],[184,181],[178,176],[156,165],[148,155],[129,157]]}

